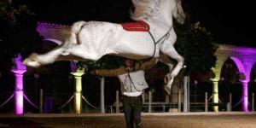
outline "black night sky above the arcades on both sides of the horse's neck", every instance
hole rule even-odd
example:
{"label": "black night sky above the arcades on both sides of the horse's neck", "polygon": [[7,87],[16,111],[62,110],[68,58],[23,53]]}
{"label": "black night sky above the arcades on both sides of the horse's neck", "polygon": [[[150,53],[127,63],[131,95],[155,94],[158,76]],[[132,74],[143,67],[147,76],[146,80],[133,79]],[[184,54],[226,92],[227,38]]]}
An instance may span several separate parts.
{"label": "black night sky above the arcades on both sides of the horse's neck", "polygon": [[[77,20],[130,21],[131,0],[13,0],[26,3],[42,22],[71,25]],[[242,2],[242,3],[241,3]],[[183,0],[218,44],[256,47],[253,1]]]}

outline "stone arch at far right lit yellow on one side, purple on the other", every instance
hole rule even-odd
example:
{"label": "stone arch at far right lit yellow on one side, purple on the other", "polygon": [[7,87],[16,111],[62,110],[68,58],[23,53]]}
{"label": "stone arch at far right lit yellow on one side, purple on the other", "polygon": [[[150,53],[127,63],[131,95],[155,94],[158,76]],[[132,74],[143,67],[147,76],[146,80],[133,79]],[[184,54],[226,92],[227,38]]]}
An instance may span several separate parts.
{"label": "stone arch at far right lit yellow on one side, purple on the other", "polygon": [[[253,67],[253,63],[256,61],[256,49],[247,47],[238,47],[232,45],[218,44],[218,49],[215,53],[217,56],[216,67],[212,68],[212,72],[215,73],[215,78],[212,79],[212,102],[218,102],[218,81],[220,79],[221,68],[224,65],[224,61],[230,57],[232,61],[235,61],[239,72],[243,79],[240,79],[242,83],[242,107],[243,111],[247,111],[248,107],[248,82],[250,81],[250,73]],[[218,111],[218,108],[214,109]]]}

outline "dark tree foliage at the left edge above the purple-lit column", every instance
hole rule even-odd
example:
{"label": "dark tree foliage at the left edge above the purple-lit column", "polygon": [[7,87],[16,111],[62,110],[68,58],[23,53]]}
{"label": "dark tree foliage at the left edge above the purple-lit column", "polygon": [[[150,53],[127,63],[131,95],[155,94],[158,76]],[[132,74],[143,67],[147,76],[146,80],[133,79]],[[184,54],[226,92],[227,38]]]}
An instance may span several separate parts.
{"label": "dark tree foliage at the left edge above the purple-lit column", "polygon": [[14,7],[10,1],[0,3],[1,54],[26,57],[32,51],[40,51],[42,37],[37,32],[37,19],[27,6]]}

